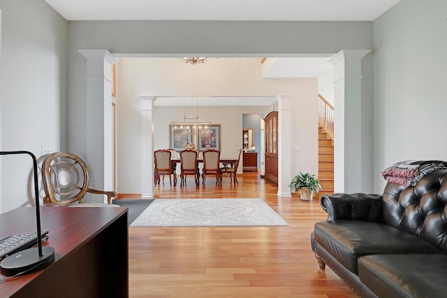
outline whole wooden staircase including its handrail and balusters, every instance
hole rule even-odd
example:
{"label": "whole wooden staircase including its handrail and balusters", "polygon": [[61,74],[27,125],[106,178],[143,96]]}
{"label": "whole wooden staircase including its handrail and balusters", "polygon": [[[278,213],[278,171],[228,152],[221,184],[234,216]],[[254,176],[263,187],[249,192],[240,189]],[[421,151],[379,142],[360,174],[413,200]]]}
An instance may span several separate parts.
{"label": "whole wooden staircase including its handrail and balusters", "polygon": [[334,193],[334,107],[318,94],[318,180],[323,194]]}

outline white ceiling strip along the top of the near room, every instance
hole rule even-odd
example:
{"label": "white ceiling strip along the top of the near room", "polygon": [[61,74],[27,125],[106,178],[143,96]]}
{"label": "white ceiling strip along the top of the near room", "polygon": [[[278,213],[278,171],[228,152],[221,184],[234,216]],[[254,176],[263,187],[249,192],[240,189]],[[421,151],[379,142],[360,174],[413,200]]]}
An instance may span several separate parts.
{"label": "white ceiling strip along the top of the near room", "polygon": [[66,20],[372,21],[400,0],[45,1]]}

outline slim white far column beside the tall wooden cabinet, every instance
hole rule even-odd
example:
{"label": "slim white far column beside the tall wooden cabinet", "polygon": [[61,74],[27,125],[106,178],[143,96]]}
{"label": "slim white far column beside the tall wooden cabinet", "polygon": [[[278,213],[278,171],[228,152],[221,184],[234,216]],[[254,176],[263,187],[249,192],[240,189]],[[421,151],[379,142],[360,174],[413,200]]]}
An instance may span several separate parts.
{"label": "slim white far column beside the tall wooden cabinet", "polygon": [[279,95],[278,101],[278,196],[291,197],[288,183],[291,179],[291,96]]}

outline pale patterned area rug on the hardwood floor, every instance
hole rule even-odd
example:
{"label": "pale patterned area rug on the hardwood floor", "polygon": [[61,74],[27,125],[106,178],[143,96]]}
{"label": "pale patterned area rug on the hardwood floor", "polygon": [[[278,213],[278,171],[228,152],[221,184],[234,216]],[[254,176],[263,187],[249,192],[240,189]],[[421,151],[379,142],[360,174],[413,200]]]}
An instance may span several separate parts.
{"label": "pale patterned area rug on the hardwood floor", "polygon": [[288,226],[262,199],[155,199],[130,227]]}

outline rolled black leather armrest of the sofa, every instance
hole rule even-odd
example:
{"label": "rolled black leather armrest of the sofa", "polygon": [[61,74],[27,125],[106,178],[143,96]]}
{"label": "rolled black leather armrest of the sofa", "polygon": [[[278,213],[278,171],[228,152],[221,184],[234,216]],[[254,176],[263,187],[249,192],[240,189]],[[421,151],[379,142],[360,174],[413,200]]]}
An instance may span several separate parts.
{"label": "rolled black leather armrest of the sofa", "polygon": [[367,220],[380,222],[382,196],[380,194],[323,194],[321,208],[328,213],[327,220]]}

